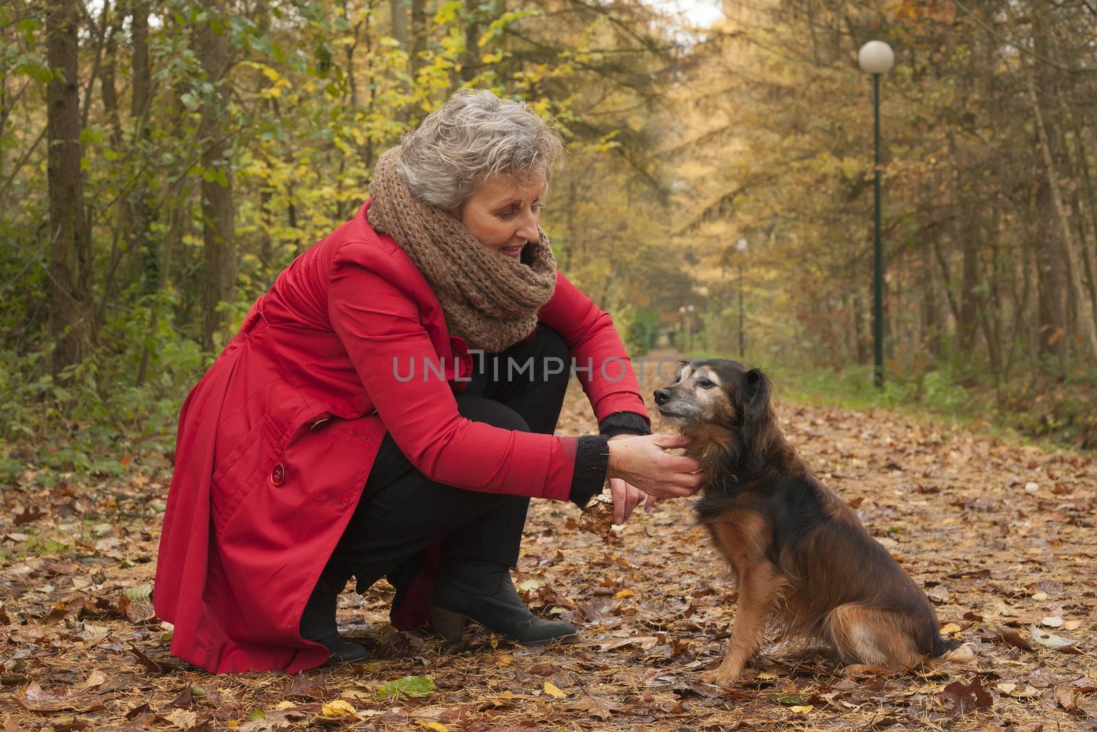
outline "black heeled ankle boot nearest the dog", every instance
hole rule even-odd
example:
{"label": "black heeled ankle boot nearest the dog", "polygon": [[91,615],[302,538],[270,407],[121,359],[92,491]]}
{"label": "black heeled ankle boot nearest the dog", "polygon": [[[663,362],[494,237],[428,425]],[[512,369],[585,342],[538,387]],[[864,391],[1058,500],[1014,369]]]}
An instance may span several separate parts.
{"label": "black heeled ankle boot nearest the dog", "polygon": [[493,633],[523,644],[539,644],[575,635],[567,622],[542,620],[525,607],[510,579],[510,568],[491,562],[452,562],[442,567],[430,613],[434,629],[450,643],[460,643],[465,619]]}

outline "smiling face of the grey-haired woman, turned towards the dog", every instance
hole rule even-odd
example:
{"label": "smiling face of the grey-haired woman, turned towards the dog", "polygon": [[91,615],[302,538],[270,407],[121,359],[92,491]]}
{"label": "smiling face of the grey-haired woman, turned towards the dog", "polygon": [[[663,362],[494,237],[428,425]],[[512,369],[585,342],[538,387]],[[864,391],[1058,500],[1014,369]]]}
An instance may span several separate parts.
{"label": "smiling face of the grey-haired woman, turned towards the dog", "polygon": [[461,211],[461,223],[485,247],[518,259],[536,241],[541,202],[547,187],[536,173],[489,176]]}

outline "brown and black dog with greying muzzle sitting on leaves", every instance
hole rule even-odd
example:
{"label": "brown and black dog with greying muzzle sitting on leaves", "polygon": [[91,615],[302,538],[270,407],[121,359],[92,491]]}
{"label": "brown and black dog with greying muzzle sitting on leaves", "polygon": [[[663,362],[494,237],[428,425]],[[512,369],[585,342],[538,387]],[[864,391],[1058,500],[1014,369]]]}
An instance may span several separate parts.
{"label": "brown and black dog with greying muzzle sitting on leaves", "polygon": [[698,519],[738,585],[727,653],[702,680],[738,678],[770,622],[847,663],[894,669],[955,647],[921,589],[784,441],[771,396],[760,370],[721,359],[682,361],[655,392],[710,475]]}

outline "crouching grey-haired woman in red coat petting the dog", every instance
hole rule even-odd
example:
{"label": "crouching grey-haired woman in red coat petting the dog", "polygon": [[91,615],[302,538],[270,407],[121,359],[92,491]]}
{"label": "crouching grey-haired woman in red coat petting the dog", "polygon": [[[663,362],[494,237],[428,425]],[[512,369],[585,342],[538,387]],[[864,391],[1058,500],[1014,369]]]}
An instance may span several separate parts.
{"label": "crouching grey-haired woman in red coat petting the dog", "polygon": [[[564,638],[510,581],[529,498],[581,506],[610,478],[622,521],[700,486],[664,452],[683,439],[649,435],[609,316],[556,271],[538,222],[562,153],[523,104],[460,93],[256,302],[180,414],[154,594],[174,655],[361,658],[336,627],[351,576],[389,578],[397,628]],[[552,435],[573,358],[599,436]]]}

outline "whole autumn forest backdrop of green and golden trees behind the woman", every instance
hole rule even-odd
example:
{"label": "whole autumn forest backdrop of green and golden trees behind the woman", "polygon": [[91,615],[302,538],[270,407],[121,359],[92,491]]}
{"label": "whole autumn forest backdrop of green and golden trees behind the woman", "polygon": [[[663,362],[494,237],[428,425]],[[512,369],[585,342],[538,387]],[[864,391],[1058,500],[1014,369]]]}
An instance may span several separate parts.
{"label": "whole autumn forest backdrop of green and golden trees behind the woman", "polygon": [[680,7],[3,3],[0,460],[170,443],[255,299],[462,86],[557,121],[543,223],[634,352],[737,356],[742,272],[748,361],[868,383],[870,38],[897,56],[890,398],[1094,443],[1097,3],[728,0],[701,29]]}

